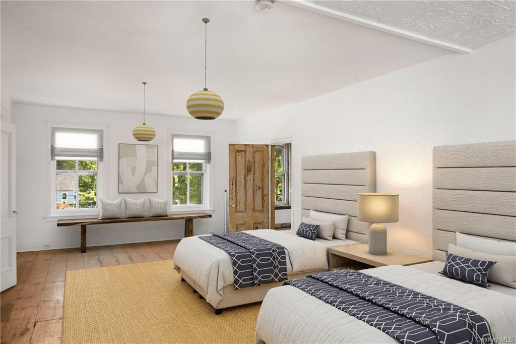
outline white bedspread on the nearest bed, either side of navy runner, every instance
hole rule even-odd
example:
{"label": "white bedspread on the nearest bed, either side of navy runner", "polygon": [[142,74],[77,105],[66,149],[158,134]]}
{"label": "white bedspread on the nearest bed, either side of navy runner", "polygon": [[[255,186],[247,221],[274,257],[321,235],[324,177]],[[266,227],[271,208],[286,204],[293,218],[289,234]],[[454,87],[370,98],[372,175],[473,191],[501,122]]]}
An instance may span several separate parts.
{"label": "white bedspread on the nearest bed, either side of navy runner", "polygon": [[[516,340],[516,298],[512,296],[400,265],[362,272],[471,309],[489,322],[497,342]],[[256,323],[255,339],[267,344],[398,342],[292,286],[267,292]]]}

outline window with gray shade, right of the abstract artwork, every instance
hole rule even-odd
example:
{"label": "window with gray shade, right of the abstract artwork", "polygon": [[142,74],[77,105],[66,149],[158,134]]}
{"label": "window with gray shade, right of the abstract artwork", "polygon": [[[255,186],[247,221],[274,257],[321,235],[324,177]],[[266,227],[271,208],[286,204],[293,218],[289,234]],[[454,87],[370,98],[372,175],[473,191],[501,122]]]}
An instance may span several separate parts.
{"label": "window with gray shade, right of the abstract artwork", "polygon": [[209,136],[172,135],[171,207],[209,207]]}

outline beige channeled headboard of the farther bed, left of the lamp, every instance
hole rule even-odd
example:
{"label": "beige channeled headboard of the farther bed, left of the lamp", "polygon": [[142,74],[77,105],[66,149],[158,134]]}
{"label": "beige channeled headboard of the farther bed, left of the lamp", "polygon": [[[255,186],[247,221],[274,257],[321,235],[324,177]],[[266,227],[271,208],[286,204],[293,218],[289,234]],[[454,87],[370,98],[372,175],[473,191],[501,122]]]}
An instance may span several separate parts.
{"label": "beige channeled headboard of the farther bed, left of the lamp", "polygon": [[310,155],[301,169],[302,216],[312,209],[349,215],[346,238],[367,242],[370,224],[357,220],[357,194],[376,192],[375,152]]}

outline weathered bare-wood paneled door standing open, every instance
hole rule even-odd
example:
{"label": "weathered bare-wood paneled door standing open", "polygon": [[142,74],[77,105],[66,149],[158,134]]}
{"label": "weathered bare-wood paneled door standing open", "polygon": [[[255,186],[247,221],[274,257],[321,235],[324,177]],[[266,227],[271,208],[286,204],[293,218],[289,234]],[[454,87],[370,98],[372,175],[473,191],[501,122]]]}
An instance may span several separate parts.
{"label": "weathered bare-wood paneled door standing open", "polygon": [[229,145],[229,230],[270,228],[269,146]]}

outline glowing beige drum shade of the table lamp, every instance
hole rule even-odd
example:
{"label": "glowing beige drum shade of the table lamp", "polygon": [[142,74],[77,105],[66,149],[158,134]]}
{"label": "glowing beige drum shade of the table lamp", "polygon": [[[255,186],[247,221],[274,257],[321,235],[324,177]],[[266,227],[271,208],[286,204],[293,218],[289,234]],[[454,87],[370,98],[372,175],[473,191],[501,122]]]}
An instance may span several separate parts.
{"label": "glowing beige drum shade of the table lamp", "polygon": [[385,193],[358,194],[358,220],[374,223],[397,222],[399,195]]}

